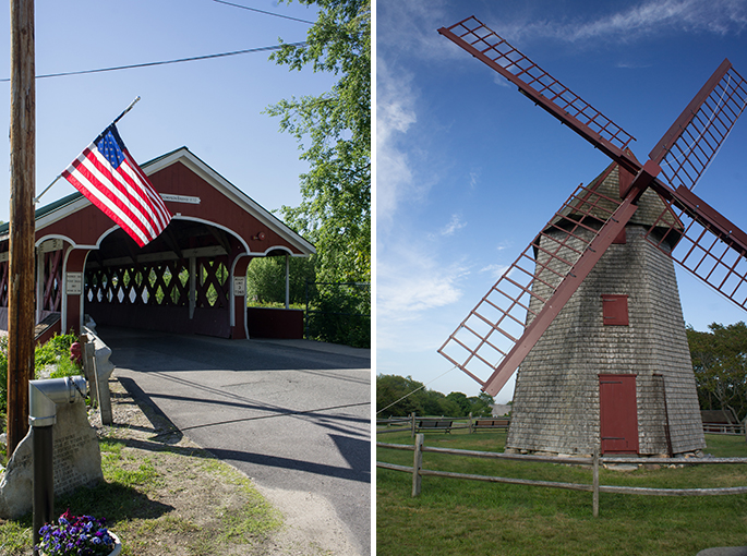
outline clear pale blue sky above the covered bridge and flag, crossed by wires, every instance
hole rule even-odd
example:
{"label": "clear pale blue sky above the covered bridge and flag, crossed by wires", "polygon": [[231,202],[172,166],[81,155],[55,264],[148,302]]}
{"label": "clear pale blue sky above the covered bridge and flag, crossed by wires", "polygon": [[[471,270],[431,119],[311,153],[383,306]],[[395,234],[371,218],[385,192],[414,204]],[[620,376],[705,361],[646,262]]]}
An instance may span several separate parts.
{"label": "clear pale blue sky above the covered bridge and flag, crossed by wires", "polygon": [[[314,21],[298,3],[234,0],[258,10]],[[103,2],[36,1],[36,73],[92,70],[212,55],[305,39],[310,25],[212,0]],[[9,10],[0,28],[10,34]],[[10,76],[10,40],[0,44],[0,77]],[[188,146],[267,209],[298,205],[297,142],[279,121],[263,114],[292,95],[316,95],[334,76],[290,72],[268,52],[88,75],[37,80],[37,192],[44,190],[136,96],[142,100],[118,124],[130,153],[145,162]],[[10,126],[10,84],[0,83],[0,129]],[[9,160],[8,140],[0,159]],[[5,166],[8,168],[8,166]],[[10,173],[0,179],[9,200]],[[40,205],[73,193],[64,180]],[[0,203],[0,220],[9,219]]]}

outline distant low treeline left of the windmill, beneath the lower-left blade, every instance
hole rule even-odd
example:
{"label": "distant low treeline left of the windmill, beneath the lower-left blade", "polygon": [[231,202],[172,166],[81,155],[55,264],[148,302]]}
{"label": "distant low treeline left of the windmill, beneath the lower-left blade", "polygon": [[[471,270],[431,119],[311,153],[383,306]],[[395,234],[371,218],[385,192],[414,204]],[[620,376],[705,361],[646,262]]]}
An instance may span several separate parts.
{"label": "distant low treeline left of the windmill, beneath the lower-left blade", "polygon": [[[414,394],[407,396],[412,391]],[[395,403],[405,396],[405,399]],[[413,380],[410,376],[376,375],[376,411],[391,403],[394,406],[383,411],[379,418],[405,416],[412,412],[418,415],[453,418],[467,416],[470,413],[473,416],[491,416],[494,400],[484,392],[469,398],[460,391],[453,391],[447,396],[424,388],[423,383]]]}

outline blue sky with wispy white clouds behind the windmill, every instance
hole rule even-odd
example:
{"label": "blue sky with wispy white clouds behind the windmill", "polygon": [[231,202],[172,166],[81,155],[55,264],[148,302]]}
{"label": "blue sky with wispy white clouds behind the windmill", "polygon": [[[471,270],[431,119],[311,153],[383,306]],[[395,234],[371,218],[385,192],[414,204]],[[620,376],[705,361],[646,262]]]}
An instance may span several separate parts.
{"label": "blue sky with wispy white clouds behind the windmill", "polygon": [[[376,5],[376,370],[474,396],[436,350],[609,159],[436,29],[475,15],[634,135],[644,161],[724,58],[747,76],[747,1]],[[743,230],[746,154],[743,116],[696,190]],[[747,317],[687,271],[677,278],[696,329]],[[511,395],[513,380],[496,400]]]}

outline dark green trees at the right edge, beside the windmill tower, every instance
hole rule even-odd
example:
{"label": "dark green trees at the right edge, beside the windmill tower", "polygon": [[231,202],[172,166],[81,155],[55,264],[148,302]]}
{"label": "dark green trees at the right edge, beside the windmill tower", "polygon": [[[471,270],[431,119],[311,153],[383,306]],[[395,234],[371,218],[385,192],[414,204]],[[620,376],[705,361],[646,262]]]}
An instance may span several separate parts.
{"label": "dark green trees at the right edge, beside the windmill tower", "polygon": [[710,331],[687,329],[692,370],[701,409],[747,416],[747,326],[712,323]]}

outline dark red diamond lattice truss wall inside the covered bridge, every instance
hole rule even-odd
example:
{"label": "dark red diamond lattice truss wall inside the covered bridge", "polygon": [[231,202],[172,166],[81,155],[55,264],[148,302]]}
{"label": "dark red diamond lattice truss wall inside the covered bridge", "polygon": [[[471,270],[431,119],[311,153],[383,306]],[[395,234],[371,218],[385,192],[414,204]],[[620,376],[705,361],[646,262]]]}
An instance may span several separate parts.
{"label": "dark red diamond lattice truss wall inside the covered bridge", "polygon": [[[196,273],[195,306],[228,307],[228,256],[197,258]],[[188,306],[189,259],[86,270],[85,299],[89,303]]]}

